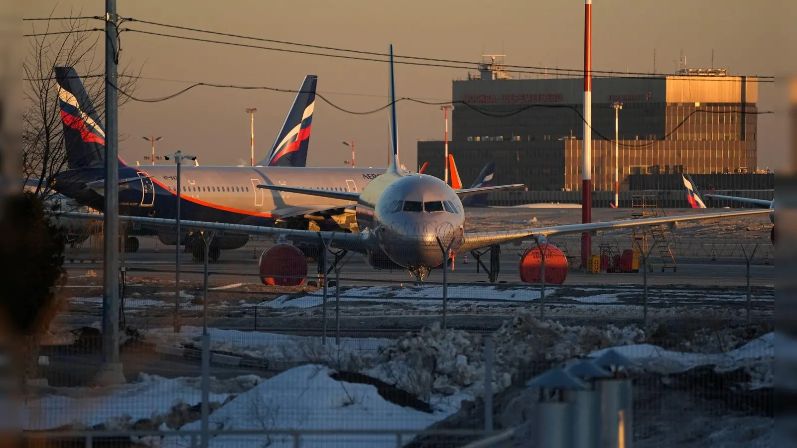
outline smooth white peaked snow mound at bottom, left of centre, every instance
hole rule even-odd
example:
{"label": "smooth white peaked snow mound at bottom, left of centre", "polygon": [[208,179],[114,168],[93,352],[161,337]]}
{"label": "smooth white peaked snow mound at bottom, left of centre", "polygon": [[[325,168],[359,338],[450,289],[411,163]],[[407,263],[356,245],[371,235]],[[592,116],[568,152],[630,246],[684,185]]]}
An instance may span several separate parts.
{"label": "smooth white peaked snow mound at bottom, left of centre", "polygon": [[[328,367],[306,365],[274,376],[211,414],[210,429],[406,430],[426,428],[447,416],[398,406],[383,399],[374,386],[337,381],[330,377],[331,373]],[[201,422],[182,429],[199,430]],[[161,446],[187,447],[190,438],[175,435],[163,440]],[[293,439],[287,434],[219,435],[210,440],[210,446],[290,447]],[[395,446],[395,435],[304,435],[301,446]]]}

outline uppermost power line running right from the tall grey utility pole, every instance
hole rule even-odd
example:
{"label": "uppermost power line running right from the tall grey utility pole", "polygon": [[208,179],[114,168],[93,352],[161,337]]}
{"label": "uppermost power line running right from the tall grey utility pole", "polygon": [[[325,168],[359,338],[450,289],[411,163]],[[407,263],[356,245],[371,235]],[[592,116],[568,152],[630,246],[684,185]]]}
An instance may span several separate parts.
{"label": "uppermost power line running right from the tall grey utility pole", "polygon": [[[378,52],[371,52],[371,51],[364,51],[364,50],[357,50],[357,49],[344,49],[344,48],[340,48],[340,47],[332,47],[332,46],[326,46],[326,45],[304,44],[304,43],[292,42],[292,41],[281,41],[281,40],[277,40],[277,39],[268,39],[268,38],[265,38],[265,37],[245,36],[245,35],[242,35],[242,34],[235,34],[235,33],[223,33],[223,32],[220,32],[220,31],[213,31],[213,30],[210,30],[210,29],[199,29],[199,28],[193,28],[193,27],[188,27],[188,26],[171,25],[171,24],[161,23],[161,22],[151,22],[151,21],[147,21],[147,20],[139,20],[139,19],[136,19],[136,18],[124,18],[124,20],[127,21],[127,22],[139,22],[139,23],[144,23],[144,24],[147,24],[147,25],[163,26],[163,27],[172,28],[172,29],[182,29],[182,30],[185,30],[185,31],[192,31],[192,32],[196,32],[196,33],[208,33],[208,34],[214,34],[214,35],[217,35],[217,36],[235,37],[235,38],[239,38],[239,39],[247,39],[247,40],[253,40],[253,41],[264,41],[264,42],[271,42],[271,43],[282,44],[282,45],[296,45],[296,46],[301,46],[301,47],[306,47],[306,48],[325,49],[325,50],[332,50],[332,51],[340,51],[340,52],[344,52],[344,53],[355,53],[355,54],[363,54],[363,55],[377,56],[377,57],[388,57],[389,56],[386,53],[378,53]],[[133,30],[133,29],[130,29],[130,30]],[[140,30],[139,30],[139,32],[140,32]],[[173,35],[168,35],[168,36],[169,37],[178,37],[178,36],[173,36]],[[226,42],[222,42],[222,41],[214,41],[214,42],[216,42],[216,43],[226,43]],[[289,51],[289,50],[284,50],[284,49],[275,49],[275,50],[276,51]],[[317,54],[317,53],[310,53],[310,54]],[[332,56],[332,55],[326,55],[326,54],[318,54],[318,55],[319,56]],[[441,58],[434,58],[434,57],[400,56],[400,55],[395,55],[394,57],[395,58],[400,58],[400,59],[412,59],[412,60],[415,60],[415,61],[445,62],[445,63],[450,63],[450,64],[466,64],[466,65],[477,65],[478,64],[477,62],[472,62],[472,61],[457,61],[457,60],[441,59]],[[369,58],[369,59],[367,59],[367,61],[382,61],[382,60],[374,60],[374,59]],[[442,66],[445,66],[445,65],[442,65]],[[536,70],[534,72],[520,71],[520,70],[505,70],[505,71],[514,72],[514,73],[548,74],[548,71],[554,72],[555,74],[559,73],[559,72],[568,72],[568,73],[573,73],[573,74],[575,74],[575,73],[583,73],[583,69],[560,69],[558,67],[557,68],[553,68],[553,67],[541,67],[541,66],[534,66],[534,65],[505,65],[505,64],[502,64],[501,66],[512,68],[512,69],[524,69],[524,70],[531,69],[531,70]],[[540,70],[544,70],[544,71],[540,71]],[[604,74],[610,74],[610,75],[614,75],[614,76],[618,76],[618,75],[619,76],[622,76],[622,75],[626,75],[626,76],[628,76],[628,75],[640,75],[640,76],[646,76],[646,77],[666,77],[666,76],[671,76],[671,75],[666,74],[666,73],[642,73],[642,72],[620,73],[620,72],[615,72],[613,70],[612,71],[609,71],[609,70],[591,70],[591,73],[593,73],[593,74],[594,73],[604,73]],[[637,76],[634,76],[634,77],[637,77]],[[774,80],[775,79],[775,77],[757,77],[757,78],[760,78],[762,80],[764,80],[764,79]],[[766,82],[766,81],[761,81],[761,82]]]}

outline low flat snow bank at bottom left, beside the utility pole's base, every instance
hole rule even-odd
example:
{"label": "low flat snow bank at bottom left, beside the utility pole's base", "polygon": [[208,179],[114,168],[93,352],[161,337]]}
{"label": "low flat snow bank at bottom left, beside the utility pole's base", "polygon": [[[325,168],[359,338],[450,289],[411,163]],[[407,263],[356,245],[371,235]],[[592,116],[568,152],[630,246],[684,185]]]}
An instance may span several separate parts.
{"label": "low flat snow bank at bottom left, beside the utility pole's base", "polygon": [[[254,375],[214,379],[210,384],[211,409],[261,381]],[[141,374],[135,383],[69,387],[58,389],[57,394],[60,395],[45,395],[26,403],[22,411],[23,430],[123,430],[134,426],[155,430],[162,423],[177,428],[188,419],[190,408],[202,401],[198,378],[165,379],[146,374]]]}

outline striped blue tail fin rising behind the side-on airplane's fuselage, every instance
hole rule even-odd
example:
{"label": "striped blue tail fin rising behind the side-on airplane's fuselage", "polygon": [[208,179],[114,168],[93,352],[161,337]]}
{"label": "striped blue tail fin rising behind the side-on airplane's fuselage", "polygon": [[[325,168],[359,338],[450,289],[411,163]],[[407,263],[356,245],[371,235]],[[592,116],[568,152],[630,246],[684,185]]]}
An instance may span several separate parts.
{"label": "striped blue tail fin rising behind the side-on airplane's fuselage", "polygon": [[304,167],[310,147],[312,112],[316,104],[316,75],[307,75],[285,116],[269,155],[257,165],[264,167]]}

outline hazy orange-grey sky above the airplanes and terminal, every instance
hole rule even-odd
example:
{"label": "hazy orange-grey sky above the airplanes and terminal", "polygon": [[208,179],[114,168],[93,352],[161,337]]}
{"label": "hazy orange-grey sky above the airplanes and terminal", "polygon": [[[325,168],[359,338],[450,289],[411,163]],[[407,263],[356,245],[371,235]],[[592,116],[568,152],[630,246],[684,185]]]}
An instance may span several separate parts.
{"label": "hazy orange-grey sky above the airplanes and terminal", "polygon": [[[731,74],[780,74],[783,53],[776,56],[775,48],[783,42],[783,35],[779,35],[775,18],[783,22],[784,17],[795,17],[794,2],[760,3],[763,6],[742,0],[595,0],[593,68],[649,72],[654,49],[660,73],[677,68],[681,49],[690,67],[710,67],[713,49],[714,66]],[[56,15],[69,15],[70,10],[102,15],[104,1],[26,2],[23,17],[47,16],[53,8]],[[395,53],[402,55],[479,61],[482,52],[505,53],[505,62],[511,65],[579,69],[583,64],[583,2],[575,0],[120,0],[118,12],[153,22],[379,53],[385,53],[392,43]],[[101,22],[97,26],[101,27]],[[225,40],[135,22],[124,26]],[[304,75],[312,73],[319,77],[318,92],[342,108],[366,111],[387,103],[387,65],[381,62],[140,33],[122,33],[121,42],[121,64],[142,67],[143,77],[296,89]],[[396,94],[450,100],[451,80],[466,75],[463,69],[397,65]],[[139,81],[137,95],[158,97],[187,85],[144,79]],[[160,103],[129,102],[120,109],[120,132],[130,136],[120,143],[120,156],[128,163],[145,163],[143,156],[151,150],[140,137],[154,133],[163,136],[160,154],[180,149],[198,155],[204,165],[248,163],[249,114],[245,108],[256,107],[257,161],[271,147],[293,96],[199,87]],[[759,96],[760,110],[773,110],[779,97],[772,84],[760,84]],[[786,159],[787,139],[779,118],[759,117],[760,167],[776,167]],[[442,140],[443,112],[437,106],[399,103],[398,129],[402,163],[416,167],[416,141]],[[351,115],[316,99],[308,165],[342,166],[344,159],[351,157],[343,140],[355,140],[358,166],[383,166],[387,112]]]}

